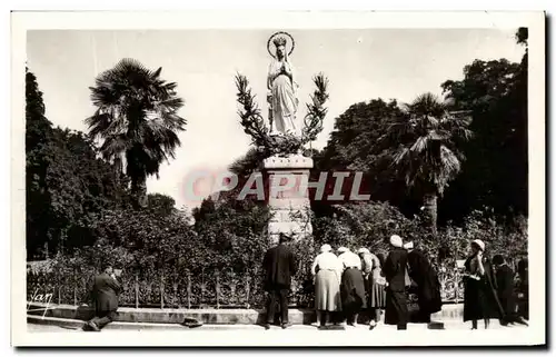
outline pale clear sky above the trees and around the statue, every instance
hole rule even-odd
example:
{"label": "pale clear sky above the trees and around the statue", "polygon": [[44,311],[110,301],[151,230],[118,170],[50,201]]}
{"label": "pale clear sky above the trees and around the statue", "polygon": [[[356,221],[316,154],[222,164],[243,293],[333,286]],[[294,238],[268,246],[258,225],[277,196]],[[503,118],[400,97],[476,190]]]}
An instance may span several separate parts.
{"label": "pale clear sky above the trees and around the statue", "polygon": [[[277,30],[280,31],[280,30]],[[296,46],[300,110],[315,90],[311,78],[324,72],[330,99],[324,130],[312,142],[322,148],[335,119],[349,106],[383,98],[409,102],[424,92],[441,96],[440,83],[463,78],[475,59],[519,61],[516,29],[365,29],[288,30]],[[85,119],[95,112],[89,87],[122,58],[178,83],[185,99],[180,116],[187,130],[179,135],[176,159],[161,166],[159,178],[147,181],[149,192],[166,194],[176,206],[200,204],[185,194],[187,178],[197,170],[219,172],[249,149],[250,138],[237,115],[235,75],[245,75],[262,113],[267,112],[266,76],[271,60],[267,30],[40,30],[29,31],[28,67],[43,92],[47,118],[54,126],[87,131]],[[208,191],[207,191],[208,192]]]}

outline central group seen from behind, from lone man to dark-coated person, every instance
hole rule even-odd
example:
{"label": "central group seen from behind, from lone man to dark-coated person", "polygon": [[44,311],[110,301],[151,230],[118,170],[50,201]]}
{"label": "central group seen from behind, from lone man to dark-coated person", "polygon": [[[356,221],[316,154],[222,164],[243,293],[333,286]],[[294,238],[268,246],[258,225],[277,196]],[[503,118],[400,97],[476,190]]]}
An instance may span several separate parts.
{"label": "central group seen from behind, from lone man to dark-coated person", "polygon": [[[276,309],[280,309],[282,328],[287,328],[287,297],[291,276],[296,272],[296,257],[287,247],[288,238],[280,236],[279,245],[265,256],[268,329]],[[332,252],[330,245],[320,247],[311,267],[315,282],[315,308],[320,327],[327,324],[348,326],[357,324],[358,315],[371,311],[370,329],[381,320],[406,329],[409,320],[407,290],[414,285],[418,296],[419,321],[429,323],[430,315],[441,309],[440,285],[436,271],[416,242],[404,244],[399,236],[390,237],[391,250],[385,258],[367,248],[357,252],[346,247]],[[278,304],[279,303],[279,304]]]}

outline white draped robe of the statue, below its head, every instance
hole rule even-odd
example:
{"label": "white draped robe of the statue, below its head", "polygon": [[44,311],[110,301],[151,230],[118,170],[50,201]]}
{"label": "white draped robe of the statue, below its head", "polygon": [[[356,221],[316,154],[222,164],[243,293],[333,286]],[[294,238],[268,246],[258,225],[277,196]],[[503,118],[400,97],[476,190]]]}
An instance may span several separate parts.
{"label": "white draped robe of the statue, below its head", "polygon": [[[281,72],[286,66],[291,78]],[[296,98],[296,83],[294,81],[294,67],[289,61],[272,60],[268,67],[267,85],[271,97],[271,132],[297,132],[295,119],[298,100]]]}

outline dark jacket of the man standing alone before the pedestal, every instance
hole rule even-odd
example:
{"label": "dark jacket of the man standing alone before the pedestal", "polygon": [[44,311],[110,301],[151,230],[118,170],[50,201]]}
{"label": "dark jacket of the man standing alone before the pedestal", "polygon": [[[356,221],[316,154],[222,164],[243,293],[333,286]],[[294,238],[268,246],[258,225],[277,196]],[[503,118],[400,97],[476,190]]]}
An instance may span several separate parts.
{"label": "dark jacket of the man standing alone before the pedestal", "polygon": [[291,286],[291,276],[296,275],[296,257],[284,244],[268,249],[262,260],[265,269],[265,288],[288,288]]}

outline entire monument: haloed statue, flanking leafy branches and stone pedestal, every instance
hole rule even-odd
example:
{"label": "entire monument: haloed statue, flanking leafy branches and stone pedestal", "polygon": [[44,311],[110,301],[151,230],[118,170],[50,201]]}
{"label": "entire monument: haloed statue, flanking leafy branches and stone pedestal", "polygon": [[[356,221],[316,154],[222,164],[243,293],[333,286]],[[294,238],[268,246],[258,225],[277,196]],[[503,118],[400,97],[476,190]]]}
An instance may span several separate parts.
{"label": "entire monument: haloed statue, flanking leafy branches and stone pedestal", "polygon": [[[267,50],[272,58],[267,73],[268,122],[256,102],[256,95],[249,81],[240,73],[236,76],[238,89],[238,115],[244,131],[251,136],[252,143],[261,156],[260,168],[265,172],[265,185],[269,195],[266,199],[272,218],[268,222],[268,236],[278,241],[280,235],[294,235],[296,240],[312,239],[311,214],[308,189],[304,189],[314,162],[305,155],[305,145],[316,140],[322,130],[328,99],[328,79],[319,72],[312,78],[316,89],[311,103],[302,120],[297,120],[299,107],[298,85],[290,56],[296,42],[291,34],[276,32],[267,41]],[[287,177],[287,184],[284,179]],[[294,180],[299,189],[280,191],[284,185]],[[276,195],[272,191],[276,189]]]}

